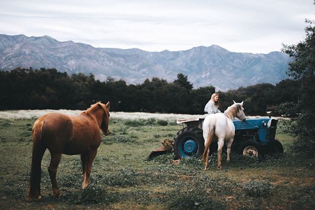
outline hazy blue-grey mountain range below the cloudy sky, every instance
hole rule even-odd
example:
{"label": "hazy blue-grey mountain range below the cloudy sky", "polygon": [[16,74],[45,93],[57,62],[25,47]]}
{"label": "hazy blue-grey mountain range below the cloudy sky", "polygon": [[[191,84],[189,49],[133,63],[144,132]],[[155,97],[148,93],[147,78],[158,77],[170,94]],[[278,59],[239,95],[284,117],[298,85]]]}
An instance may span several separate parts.
{"label": "hazy blue-grey mountain range below the cloudy sky", "polygon": [[0,70],[56,68],[71,74],[94,74],[95,79],[123,79],[141,84],[158,77],[172,82],[178,73],[188,76],[194,88],[214,86],[230,90],[258,83],[275,85],[287,76],[289,57],[234,53],[218,45],[184,51],[148,52],[140,49],[95,48],[73,41],[60,42],[50,36],[0,34]]}

